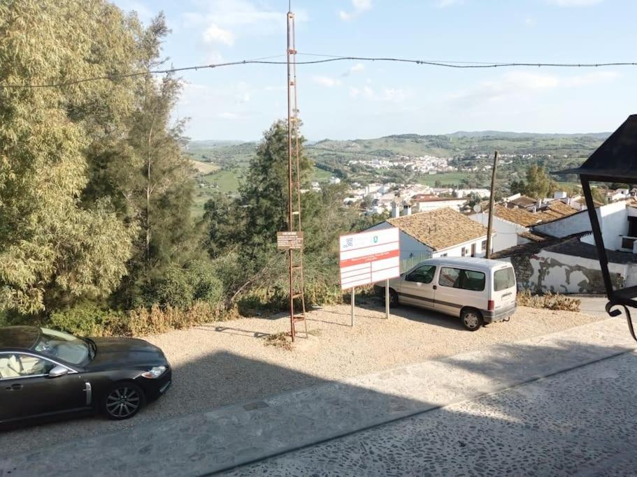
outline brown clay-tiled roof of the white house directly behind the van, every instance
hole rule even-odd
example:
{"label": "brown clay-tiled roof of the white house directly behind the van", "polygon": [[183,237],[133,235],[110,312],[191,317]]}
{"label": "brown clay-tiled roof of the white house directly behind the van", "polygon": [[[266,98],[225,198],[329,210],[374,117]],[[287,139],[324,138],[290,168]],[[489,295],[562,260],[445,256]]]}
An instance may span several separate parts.
{"label": "brown clay-tiled roof of the white house directly behind the van", "polygon": [[449,207],[387,219],[431,249],[442,250],[487,236],[487,228]]}

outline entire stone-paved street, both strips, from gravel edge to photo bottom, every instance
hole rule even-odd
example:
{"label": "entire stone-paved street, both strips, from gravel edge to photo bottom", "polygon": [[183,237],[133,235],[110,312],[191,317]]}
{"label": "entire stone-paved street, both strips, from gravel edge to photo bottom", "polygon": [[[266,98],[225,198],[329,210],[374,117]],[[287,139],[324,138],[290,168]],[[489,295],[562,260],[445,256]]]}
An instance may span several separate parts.
{"label": "entire stone-paved street, both strips, from gravel edge to photo bottom", "polygon": [[10,455],[0,476],[624,475],[634,349],[611,318]]}

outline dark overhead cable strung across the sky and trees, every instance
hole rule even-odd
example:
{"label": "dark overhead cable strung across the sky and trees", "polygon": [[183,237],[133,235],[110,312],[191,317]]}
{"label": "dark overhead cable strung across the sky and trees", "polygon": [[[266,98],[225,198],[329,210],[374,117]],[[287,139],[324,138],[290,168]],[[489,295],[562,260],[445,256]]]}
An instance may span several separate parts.
{"label": "dark overhead cable strung across the sky and trees", "polygon": [[[303,54],[303,53],[299,53]],[[229,61],[227,63],[216,63],[216,64],[203,64],[197,66],[183,66],[182,68],[165,68],[165,69],[157,69],[157,70],[149,70],[149,71],[138,71],[135,73],[125,73],[122,75],[114,74],[114,75],[103,75],[103,76],[93,76],[90,78],[80,78],[78,80],[70,80],[70,81],[62,81],[62,82],[51,82],[51,83],[43,83],[39,85],[17,85],[17,84],[2,84],[1,88],[55,88],[55,87],[65,87],[72,85],[79,85],[80,83],[90,82],[90,81],[99,81],[99,80],[109,80],[116,81],[122,80],[124,78],[133,78],[136,76],[145,76],[145,75],[162,75],[166,73],[180,73],[181,71],[198,71],[204,69],[213,69],[213,68],[224,68],[226,66],[238,66],[238,65],[246,65],[246,64],[269,64],[269,65],[285,65],[287,61],[272,61],[269,58],[277,58],[285,55],[275,55],[273,57],[265,57],[265,58],[257,58],[257,59],[244,59],[242,61]],[[409,64],[417,64],[424,66],[438,66],[443,68],[458,68],[458,69],[481,69],[481,68],[515,68],[515,67],[546,67],[546,68],[603,68],[608,66],[637,66],[637,62],[631,61],[615,61],[615,62],[607,62],[607,63],[524,63],[524,62],[493,62],[493,63],[483,63],[479,61],[432,61],[427,59],[407,59],[407,58],[392,58],[392,57],[338,57],[333,55],[322,55],[322,54],[311,54],[306,53],[306,56],[320,56],[324,57],[324,59],[314,59],[308,61],[297,61],[297,65],[301,64],[322,64],[322,63],[332,63],[334,61],[393,61],[396,63],[409,63]]]}

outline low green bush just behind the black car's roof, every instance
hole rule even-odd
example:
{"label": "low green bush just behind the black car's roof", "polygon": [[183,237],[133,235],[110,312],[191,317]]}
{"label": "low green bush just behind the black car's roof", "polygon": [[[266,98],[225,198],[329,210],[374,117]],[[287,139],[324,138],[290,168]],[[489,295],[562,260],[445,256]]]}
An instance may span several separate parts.
{"label": "low green bush just behind the black car's roof", "polygon": [[78,336],[130,335],[129,318],[121,311],[102,309],[95,304],[79,304],[52,313],[47,323],[51,328]]}

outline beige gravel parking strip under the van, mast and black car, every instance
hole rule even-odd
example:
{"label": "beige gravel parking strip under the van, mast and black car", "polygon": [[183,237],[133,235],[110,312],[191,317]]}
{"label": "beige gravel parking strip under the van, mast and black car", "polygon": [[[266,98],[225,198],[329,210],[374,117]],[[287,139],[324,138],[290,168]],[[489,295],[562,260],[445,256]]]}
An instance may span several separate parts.
{"label": "beige gravel parking strip under the van, mast and black car", "polygon": [[147,337],[173,366],[173,386],[165,397],[122,422],[80,418],[0,434],[0,455],[34,450],[62,440],[165,420],[226,404],[249,401],[325,381],[343,379],[431,358],[516,342],[598,321],[569,311],[520,307],[508,323],[468,332],[457,318],[411,307],[384,309],[371,299],[356,309],[340,305],[311,312],[310,339],[293,351],[264,346],[264,338],[286,331],[289,318],[241,318]]}

